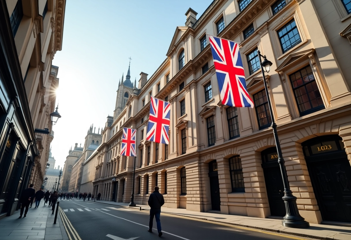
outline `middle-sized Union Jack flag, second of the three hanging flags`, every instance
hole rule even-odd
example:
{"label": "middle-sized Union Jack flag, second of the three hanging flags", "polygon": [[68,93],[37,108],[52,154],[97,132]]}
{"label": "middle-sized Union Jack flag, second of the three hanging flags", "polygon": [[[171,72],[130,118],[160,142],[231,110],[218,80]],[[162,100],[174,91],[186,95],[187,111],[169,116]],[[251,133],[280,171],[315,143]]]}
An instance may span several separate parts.
{"label": "middle-sized Union Jack flag, second of the three hanging flags", "polygon": [[169,102],[151,97],[146,140],[169,144],[168,129],[170,129],[170,106]]}

